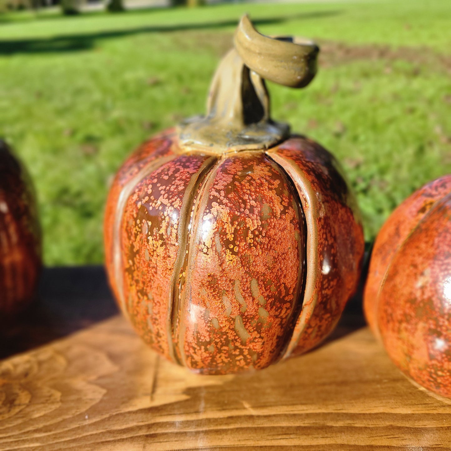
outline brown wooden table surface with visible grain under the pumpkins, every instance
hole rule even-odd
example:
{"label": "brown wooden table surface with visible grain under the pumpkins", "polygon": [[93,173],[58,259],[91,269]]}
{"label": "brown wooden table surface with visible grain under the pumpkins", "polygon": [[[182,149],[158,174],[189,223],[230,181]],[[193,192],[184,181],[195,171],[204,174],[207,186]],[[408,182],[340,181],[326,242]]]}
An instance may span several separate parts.
{"label": "brown wooden table surface with visible grain under the pumpkins", "polygon": [[359,302],[304,356],[197,376],[147,349],[101,267],[48,269],[2,328],[0,450],[451,449],[451,405],[391,364]]}

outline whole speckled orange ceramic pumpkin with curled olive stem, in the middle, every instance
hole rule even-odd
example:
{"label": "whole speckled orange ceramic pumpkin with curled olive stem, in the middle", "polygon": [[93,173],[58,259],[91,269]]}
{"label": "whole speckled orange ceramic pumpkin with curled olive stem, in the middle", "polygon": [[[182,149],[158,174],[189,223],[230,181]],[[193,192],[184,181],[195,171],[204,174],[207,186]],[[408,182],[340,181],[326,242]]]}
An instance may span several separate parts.
{"label": "whole speckled orange ceramic pumpkin with curled olive stem, in the middle", "polygon": [[106,268],[154,350],[205,374],[264,368],[322,341],[359,279],[354,198],[329,152],[271,120],[263,80],[303,87],[310,41],[244,17],[205,117],[144,143],[116,175]]}

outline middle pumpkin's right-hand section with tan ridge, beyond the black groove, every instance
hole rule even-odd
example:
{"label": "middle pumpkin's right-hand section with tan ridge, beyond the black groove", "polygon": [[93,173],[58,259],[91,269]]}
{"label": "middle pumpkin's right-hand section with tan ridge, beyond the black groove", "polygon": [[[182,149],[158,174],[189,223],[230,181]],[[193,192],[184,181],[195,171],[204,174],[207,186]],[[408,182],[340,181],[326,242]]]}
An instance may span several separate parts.
{"label": "middle pumpkin's right-hand section with tan ridge, beyond the black groove", "polygon": [[335,327],[359,281],[364,236],[359,210],[336,159],[305,138],[270,155],[291,176],[307,219],[307,280],[287,354],[318,345]]}

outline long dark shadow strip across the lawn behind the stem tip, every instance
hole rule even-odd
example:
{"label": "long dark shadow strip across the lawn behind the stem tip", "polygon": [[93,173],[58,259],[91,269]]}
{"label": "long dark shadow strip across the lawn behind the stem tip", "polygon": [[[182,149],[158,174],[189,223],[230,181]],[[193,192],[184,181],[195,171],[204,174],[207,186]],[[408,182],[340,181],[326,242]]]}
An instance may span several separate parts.
{"label": "long dark shadow strip across the lawn behind the stem tip", "polygon": [[[316,11],[298,15],[290,15],[275,18],[255,18],[255,25],[272,23],[283,23],[288,20],[322,18],[340,14],[341,11]],[[236,20],[225,20],[219,22],[185,23],[176,25],[162,25],[130,28],[128,30],[110,30],[96,33],[73,34],[55,36],[45,39],[17,39],[0,41],[0,55],[13,55],[16,53],[51,53],[90,50],[96,45],[96,41],[116,37],[130,36],[142,33],[164,33],[186,30],[202,30],[234,27]]]}

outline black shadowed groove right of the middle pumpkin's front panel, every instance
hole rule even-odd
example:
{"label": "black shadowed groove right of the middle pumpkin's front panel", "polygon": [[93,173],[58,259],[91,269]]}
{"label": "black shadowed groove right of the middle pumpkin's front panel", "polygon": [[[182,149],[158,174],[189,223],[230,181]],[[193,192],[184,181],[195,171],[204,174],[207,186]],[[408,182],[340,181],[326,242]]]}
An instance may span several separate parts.
{"label": "black shadowed groove right of the middle pumpkin's front panel", "polygon": [[294,304],[293,312],[286,327],[284,339],[282,340],[285,343],[285,345],[280,350],[279,355],[277,355],[276,358],[274,359],[273,363],[276,363],[277,361],[282,359],[286,353],[288,344],[290,343],[291,338],[293,337],[293,332],[295,331],[295,326],[301,313],[302,306],[304,304],[305,285],[307,281],[307,272],[308,272],[307,253],[306,253],[308,227],[305,218],[304,208],[302,207],[302,202],[300,199],[298,189],[296,188],[295,182],[293,181],[293,179],[291,179],[290,174],[288,174],[288,172],[280,163],[278,163],[271,155],[268,155],[267,152],[265,152],[265,155],[277,167],[280,173],[285,176],[286,183],[290,187],[291,193],[296,200],[296,206],[299,211],[299,226],[302,227],[303,229],[302,230],[303,234],[299,239],[299,269],[298,269],[298,281],[296,283],[295,288],[295,296],[293,298]]}

